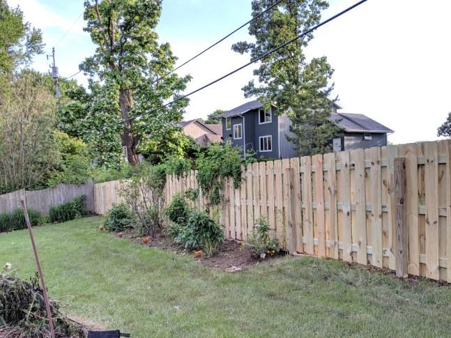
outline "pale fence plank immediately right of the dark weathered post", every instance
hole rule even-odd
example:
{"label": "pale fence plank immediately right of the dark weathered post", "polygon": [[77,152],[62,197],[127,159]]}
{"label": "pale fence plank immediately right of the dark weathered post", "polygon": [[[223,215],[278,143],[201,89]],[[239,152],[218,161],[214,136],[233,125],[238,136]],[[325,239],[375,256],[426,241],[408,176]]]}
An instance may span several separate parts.
{"label": "pale fence plank immediately right of the dark weathered post", "polygon": [[404,146],[406,165],[406,223],[408,224],[408,273],[420,275],[420,226],[418,222],[418,144]]}

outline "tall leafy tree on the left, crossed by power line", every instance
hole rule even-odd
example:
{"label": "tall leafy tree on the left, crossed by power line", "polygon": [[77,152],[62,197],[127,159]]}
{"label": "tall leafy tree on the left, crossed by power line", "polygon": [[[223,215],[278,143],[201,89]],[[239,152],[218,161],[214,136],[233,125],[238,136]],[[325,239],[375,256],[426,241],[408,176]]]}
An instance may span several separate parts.
{"label": "tall leafy tree on the left, crossed by power line", "polygon": [[169,44],[158,43],[155,33],[161,0],[86,0],[84,6],[85,31],[97,48],[80,68],[97,75],[111,92],[109,96],[116,97],[123,121],[121,141],[128,161],[136,164],[140,145],[178,132],[176,123],[182,120],[188,99],[142,118],[130,118],[177,98],[190,77],[165,76],[174,68],[176,57]]}

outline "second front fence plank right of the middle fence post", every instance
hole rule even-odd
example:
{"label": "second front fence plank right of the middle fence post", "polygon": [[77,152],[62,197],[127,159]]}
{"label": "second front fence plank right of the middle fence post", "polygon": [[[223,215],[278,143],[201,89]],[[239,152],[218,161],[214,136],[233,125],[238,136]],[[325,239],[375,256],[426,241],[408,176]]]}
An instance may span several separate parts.
{"label": "second front fence plank right of the middle fence post", "polygon": [[326,226],[324,215],[324,174],[323,155],[312,156],[312,164],[316,167],[314,178],[315,202],[316,202],[316,238],[318,239],[318,256],[326,256]]}

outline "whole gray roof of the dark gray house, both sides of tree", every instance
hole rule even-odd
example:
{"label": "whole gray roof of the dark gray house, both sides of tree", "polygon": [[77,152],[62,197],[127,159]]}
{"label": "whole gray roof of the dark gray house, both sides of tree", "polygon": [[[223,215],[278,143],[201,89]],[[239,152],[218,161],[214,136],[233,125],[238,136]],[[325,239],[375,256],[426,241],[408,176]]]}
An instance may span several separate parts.
{"label": "whole gray roof of the dark gray house, both sides of tree", "polygon": [[[339,105],[334,102],[336,109],[341,109]],[[258,109],[263,107],[263,103],[259,100],[246,102],[234,109],[224,112],[222,117],[237,116],[250,112],[252,109]],[[390,128],[385,127],[379,122],[374,121],[372,118],[365,116],[364,114],[349,114],[349,113],[337,113],[330,114],[332,121],[337,121],[337,124],[342,127],[346,132],[394,132]]]}

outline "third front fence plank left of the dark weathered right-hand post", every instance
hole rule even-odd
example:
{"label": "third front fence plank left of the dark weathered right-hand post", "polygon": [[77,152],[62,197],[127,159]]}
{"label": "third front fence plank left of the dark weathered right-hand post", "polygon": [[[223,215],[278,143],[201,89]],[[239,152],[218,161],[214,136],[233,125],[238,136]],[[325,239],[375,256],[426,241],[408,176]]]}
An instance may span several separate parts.
{"label": "third front fence plank left of the dark weathered right-hand post", "polygon": [[356,238],[353,243],[358,245],[356,261],[367,264],[367,220],[365,198],[365,152],[363,149],[351,151],[350,160],[354,162],[354,202],[356,203],[356,219],[352,220],[356,226]]}

